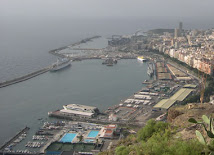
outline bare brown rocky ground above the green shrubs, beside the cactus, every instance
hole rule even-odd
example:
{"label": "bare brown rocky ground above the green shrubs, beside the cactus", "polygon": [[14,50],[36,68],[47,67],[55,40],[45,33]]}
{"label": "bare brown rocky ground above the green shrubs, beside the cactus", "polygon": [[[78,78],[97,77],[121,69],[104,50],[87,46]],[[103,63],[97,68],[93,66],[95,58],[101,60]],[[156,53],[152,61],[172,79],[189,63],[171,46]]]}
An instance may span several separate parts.
{"label": "bare brown rocky ground above the green shrubs, beside the cactus", "polygon": [[204,128],[201,125],[189,123],[188,120],[190,118],[202,120],[202,115],[209,117],[212,113],[214,113],[214,105],[212,104],[188,104],[170,108],[167,121],[179,128],[176,135],[184,140],[196,138],[195,130],[200,130],[205,138],[207,138]]}

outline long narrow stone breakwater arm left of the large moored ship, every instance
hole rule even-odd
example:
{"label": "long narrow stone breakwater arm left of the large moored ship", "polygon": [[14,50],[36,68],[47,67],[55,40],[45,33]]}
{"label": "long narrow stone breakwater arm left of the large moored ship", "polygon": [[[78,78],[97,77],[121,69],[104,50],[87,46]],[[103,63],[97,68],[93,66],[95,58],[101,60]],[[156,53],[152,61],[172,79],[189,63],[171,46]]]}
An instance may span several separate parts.
{"label": "long narrow stone breakwater arm left of the large moored ship", "polygon": [[33,77],[36,77],[40,74],[43,74],[43,73],[46,73],[50,70],[51,66],[48,66],[48,67],[45,67],[41,70],[38,70],[36,72],[33,72],[33,73],[30,73],[30,74],[27,74],[27,75],[24,75],[22,77],[18,77],[18,78],[15,78],[13,80],[10,80],[10,81],[5,81],[5,82],[2,82],[0,83],[0,88],[2,87],[7,87],[9,85],[12,85],[12,84],[16,84],[16,83],[19,83],[19,82],[22,82],[22,81],[26,81],[28,79],[31,79]]}

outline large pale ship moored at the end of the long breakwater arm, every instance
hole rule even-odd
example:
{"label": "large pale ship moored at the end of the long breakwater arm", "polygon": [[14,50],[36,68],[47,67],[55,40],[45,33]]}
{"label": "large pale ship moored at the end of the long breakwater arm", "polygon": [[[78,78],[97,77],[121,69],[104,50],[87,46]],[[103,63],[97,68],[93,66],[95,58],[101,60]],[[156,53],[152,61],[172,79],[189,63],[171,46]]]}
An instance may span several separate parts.
{"label": "large pale ship moored at the end of the long breakwater arm", "polygon": [[68,58],[57,59],[57,62],[52,65],[50,71],[58,71],[71,65],[71,60]]}

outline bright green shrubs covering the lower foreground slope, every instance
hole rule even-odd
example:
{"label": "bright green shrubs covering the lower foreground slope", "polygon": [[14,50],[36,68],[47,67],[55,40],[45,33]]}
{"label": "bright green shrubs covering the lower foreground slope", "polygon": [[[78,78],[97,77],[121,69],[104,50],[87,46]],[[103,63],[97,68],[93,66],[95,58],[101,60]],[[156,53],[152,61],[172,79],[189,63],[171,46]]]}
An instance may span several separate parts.
{"label": "bright green shrubs covering the lower foreground slope", "polygon": [[175,138],[176,129],[170,124],[149,120],[136,135],[120,140],[114,150],[101,154],[116,155],[197,155],[205,147],[197,140]]}

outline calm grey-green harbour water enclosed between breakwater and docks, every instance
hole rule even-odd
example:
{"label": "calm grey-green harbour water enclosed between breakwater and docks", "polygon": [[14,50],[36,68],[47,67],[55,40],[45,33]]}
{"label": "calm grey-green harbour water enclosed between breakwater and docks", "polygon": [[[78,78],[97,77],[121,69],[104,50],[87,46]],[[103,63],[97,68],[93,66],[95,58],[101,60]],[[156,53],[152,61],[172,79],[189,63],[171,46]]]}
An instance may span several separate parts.
{"label": "calm grey-green harbour water enclosed between breakwater and docks", "polygon": [[[72,62],[71,68],[55,73],[46,72],[22,83],[0,89],[2,100],[0,119],[2,125],[8,125],[8,122],[4,121],[4,116],[7,115],[11,123],[10,131],[6,128],[1,129],[5,133],[1,135],[1,143],[8,139],[6,137],[15,135],[17,129],[28,125],[32,130],[30,137],[27,135],[26,141],[23,141],[21,146],[16,146],[17,150],[21,150],[28,141],[32,141],[32,136],[36,132],[34,129],[37,130],[43,121],[57,120],[49,118],[48,112],[62,109],[63,105],[72,103],[95,106],[104,112],[109,106],[116,105],[136,90],[140,90],[142,81],[149,79],[149,76],[144,74],[147,65],[137,62],[136,59],[119,60],[112,68],[102,65],[102,62],[103,60],[75,61]],[[130,78],[133,81],[130,81]],[[97,92],[97,89],[101,91]],[[8,91],[14,98],[7,98]],[[13,108],[15,105],[17,108]],[[17,121],[21,123],[17,124]]]}

